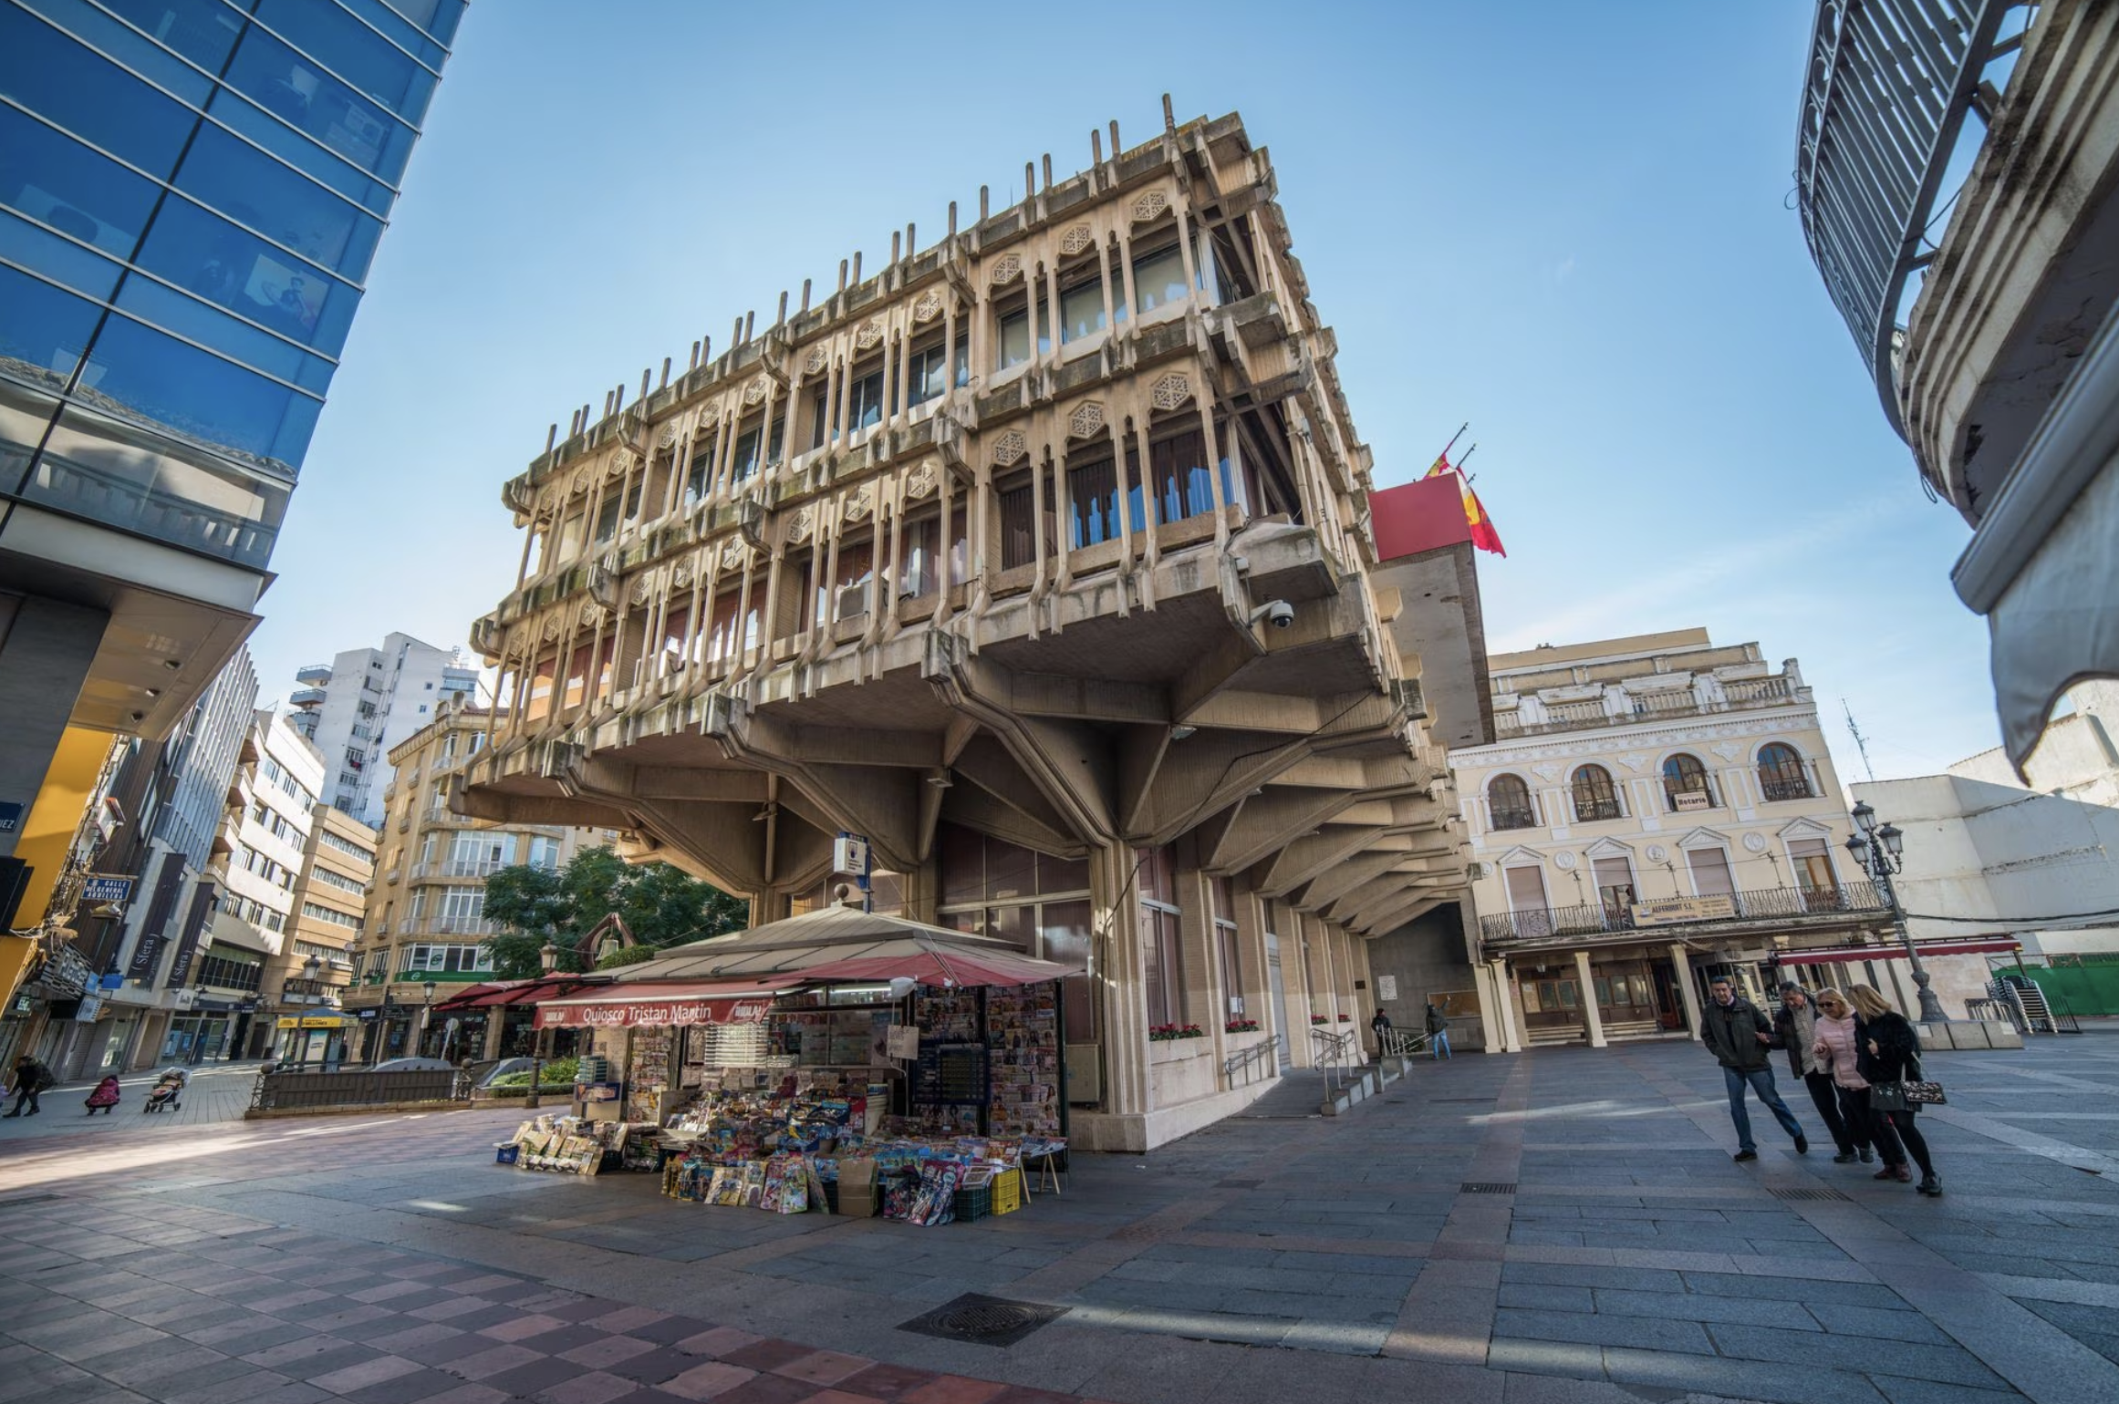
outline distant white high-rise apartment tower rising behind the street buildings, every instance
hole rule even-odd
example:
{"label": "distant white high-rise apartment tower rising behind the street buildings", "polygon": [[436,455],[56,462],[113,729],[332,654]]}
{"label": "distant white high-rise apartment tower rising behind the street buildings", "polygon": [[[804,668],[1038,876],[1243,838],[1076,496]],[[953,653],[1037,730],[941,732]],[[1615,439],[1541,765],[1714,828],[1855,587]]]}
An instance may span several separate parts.
{"label": "distant white high-rise apartment tower rising behind the street buildings", "polygon": [[295,673],[290,701],[301,728],[328,767],[324,800],[381,828],[390,750],[441,714],[451,697],[473,697],[479,669],[460,650],[392,633],[381,648],[350,648]]}

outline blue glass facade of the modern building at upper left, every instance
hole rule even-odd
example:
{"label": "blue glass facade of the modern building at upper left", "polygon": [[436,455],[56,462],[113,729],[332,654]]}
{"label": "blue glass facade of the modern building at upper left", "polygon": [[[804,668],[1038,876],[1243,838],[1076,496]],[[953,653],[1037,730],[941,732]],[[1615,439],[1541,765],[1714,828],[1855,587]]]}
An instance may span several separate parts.
{"label": "blue glass facade of the modern building at upper left", "polygon": [[466,0],[0,0],[0,517],[263,572]]}

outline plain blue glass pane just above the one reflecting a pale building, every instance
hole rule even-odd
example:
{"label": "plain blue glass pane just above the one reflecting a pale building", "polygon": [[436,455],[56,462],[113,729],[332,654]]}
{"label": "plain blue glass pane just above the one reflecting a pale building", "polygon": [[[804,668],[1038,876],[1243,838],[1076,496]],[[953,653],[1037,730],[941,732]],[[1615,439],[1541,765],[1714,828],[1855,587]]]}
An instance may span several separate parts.
{"label": "plain blue glass pane just above the one reflecting a pale building", "polygon": [[104,326],[81,383],[197,443],[288,470],[309,449],[320,409],[305,394],[125,318]]}

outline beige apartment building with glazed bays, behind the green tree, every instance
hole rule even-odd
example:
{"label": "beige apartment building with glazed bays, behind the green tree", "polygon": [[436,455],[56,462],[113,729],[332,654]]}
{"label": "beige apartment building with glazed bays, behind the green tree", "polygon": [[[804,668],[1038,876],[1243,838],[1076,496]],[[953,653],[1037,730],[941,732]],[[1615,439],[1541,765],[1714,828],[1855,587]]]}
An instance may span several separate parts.
{"label": "beige apartment building with glazed bays, behind the green tree", "polygon": [[[610,834],[557,824],[492,824],[449,809],[449,790],[485,745],[492,718],[462,699],[390,750],[384,828],[373,834],[375,870],[367,928],[352,949],[341,1004],[358,1025],[352,1057],[381,1061],[420,1052],[426,1008],[464,985],[492,978],[485,879],[511,864],[559,868]],[[356,822],[358,824],[358,822]],[[487,1048],[492,1036],[494,1048]],[[477,1044],[451,1040],[449,1057],[498,1055],[502,1021]],[[432,1040],[430,1040],[432,1042]]]}

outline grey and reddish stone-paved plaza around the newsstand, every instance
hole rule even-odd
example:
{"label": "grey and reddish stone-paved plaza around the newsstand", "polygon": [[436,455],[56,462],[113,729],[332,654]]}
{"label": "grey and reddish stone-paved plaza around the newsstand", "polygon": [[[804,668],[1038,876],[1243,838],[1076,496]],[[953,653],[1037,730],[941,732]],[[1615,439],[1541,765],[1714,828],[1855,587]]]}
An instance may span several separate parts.
{"label": "grey and reddish stone-paved plaza around the newsstand", "polygon": [[[1928,1067],[1939,1201],[1814,1124],[1731,1163],[1682,1042],[1422,1063],[943,1228],[496,1167],[519,1112],[0,1122],[0,1402],[2119,1398],[2119,1029]],[[966,1292],[1066,1311],[901,1330]]]}

